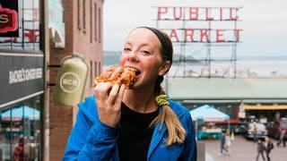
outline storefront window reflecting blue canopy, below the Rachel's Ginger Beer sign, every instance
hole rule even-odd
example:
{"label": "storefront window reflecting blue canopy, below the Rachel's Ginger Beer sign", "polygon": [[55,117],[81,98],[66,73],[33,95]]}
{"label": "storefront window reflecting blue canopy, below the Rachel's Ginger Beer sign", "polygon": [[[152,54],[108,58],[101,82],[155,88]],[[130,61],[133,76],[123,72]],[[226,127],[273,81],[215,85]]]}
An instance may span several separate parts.
{"label": "storefront window reflecting blue canopy, below the Rachel's Ginger Beer sign", "polygon": [[[13,106],[0,108],[0,160],[14,160],[14,149],[24,148],[26,155],[17,160],[40,160],[42,98],[32,97]],[[18,143],[23,141],[24,145]]]}

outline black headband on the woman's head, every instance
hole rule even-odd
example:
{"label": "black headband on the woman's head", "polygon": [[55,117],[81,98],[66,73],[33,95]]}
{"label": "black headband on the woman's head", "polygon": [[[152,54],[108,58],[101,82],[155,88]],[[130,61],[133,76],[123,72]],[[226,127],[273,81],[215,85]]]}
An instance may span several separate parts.
{"label": "black headband on the woman's head", "polygon": [[[172,53],[172,48],[169,47],[169,43],[165,40],[164,35],[161,33],[160,30],[157,30],[155,28],[151,28],[151,27],[139,27],[139,28],[145,28],[148,30],[152,30],[152,32],[159,38],[159,40],[161,41],[161,47],[163,50],[163,56],[168,56],[168,53]],[[170,64],[172,63],[172,55],[170,56]]]}

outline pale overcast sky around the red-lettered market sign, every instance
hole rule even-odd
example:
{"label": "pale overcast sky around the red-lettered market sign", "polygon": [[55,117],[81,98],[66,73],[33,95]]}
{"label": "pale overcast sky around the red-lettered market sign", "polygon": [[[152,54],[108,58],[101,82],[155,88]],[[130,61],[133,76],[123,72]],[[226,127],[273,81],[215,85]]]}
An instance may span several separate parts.
{"label": "pale overcast sky around the red-lettered market sign", "polygon": [[[238,29],[243,31],[238,55],[286,55],[287,2],[284,0],[105,0],[104,50],[122,50],[126,35],[135,27],[156,27],[152,20],[156,19],[157,10],[152,6],[242,6]],[[224,22],[221,25],[220,28],[230,28]]]}

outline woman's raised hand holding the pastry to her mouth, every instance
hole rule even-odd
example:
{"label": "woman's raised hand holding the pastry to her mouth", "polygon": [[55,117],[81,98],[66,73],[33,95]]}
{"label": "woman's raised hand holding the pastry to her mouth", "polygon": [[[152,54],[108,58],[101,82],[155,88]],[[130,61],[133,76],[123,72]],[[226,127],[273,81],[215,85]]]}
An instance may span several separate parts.
{"label": "woman's raised hand holding the pastry to her mouth", "polygon": [[109,82],[100,82],[95,87],[96,104],[101,123],[111,127],[117,126],[125,89],[125,85],[112,85]]}

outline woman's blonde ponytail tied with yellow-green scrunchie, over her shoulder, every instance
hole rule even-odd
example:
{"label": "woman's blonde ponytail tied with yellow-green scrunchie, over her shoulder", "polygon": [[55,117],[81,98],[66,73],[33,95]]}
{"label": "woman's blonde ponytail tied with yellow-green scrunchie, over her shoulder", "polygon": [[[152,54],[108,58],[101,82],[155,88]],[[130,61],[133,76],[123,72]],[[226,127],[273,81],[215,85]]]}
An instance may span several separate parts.
{"label": "woman's blonde ponytail tied with yellow-green scrunchie, over her shoulder", "polygon": [[156,98],[156,103],[162,107],[161,113],[152,121],[150,126],[155,127],[156,124],[161,123],[162,127],[163,123],[165,123],[168,129],[166,146],[170,146],[174,143],[182,144],[186,139],[186,130],[179,122],[177,114],[170,108],[168,97],[165,95],[162,88],[160,95]]}

